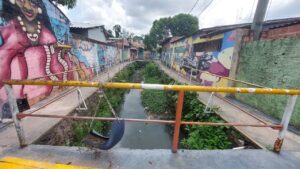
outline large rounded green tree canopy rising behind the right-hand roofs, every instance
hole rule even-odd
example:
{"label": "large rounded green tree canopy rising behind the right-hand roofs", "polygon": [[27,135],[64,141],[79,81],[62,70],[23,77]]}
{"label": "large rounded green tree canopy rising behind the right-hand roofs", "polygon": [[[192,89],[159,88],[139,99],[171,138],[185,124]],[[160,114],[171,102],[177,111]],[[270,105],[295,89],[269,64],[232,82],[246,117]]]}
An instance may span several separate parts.
{"label": "large rounded green tree canopy rising behind the right-hand roofs", "polygon": [[198,25],[198,18],[190,14],[160,18],[153,22],[149,34],[145,36],[144,44],[148,50],[153,51],[163,39],[171,35],[191,35],[199,29]]}

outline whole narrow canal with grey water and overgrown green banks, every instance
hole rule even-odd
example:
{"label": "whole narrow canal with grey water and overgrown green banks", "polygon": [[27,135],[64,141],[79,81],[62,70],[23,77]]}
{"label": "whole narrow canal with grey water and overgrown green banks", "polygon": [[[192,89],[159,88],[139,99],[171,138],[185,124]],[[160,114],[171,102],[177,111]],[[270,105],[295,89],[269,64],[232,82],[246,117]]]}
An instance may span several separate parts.
{"label": "whole narrow canal with grey water and overgrown green banks", "polygon": [[[140,83],[172,83],[167,75],[161,73],[154,63],[134,63],[114,77],[121,82]],[[137,89],[107,90],[106,94],[114,109],[121,118],[136,119],[174,119],[176,94],[161,93],[155,91],[142,91]],[[112,114],[106,102],[98,104],[99,99],[94,94],[87,103],[88,111],[75,111],[79,116],[111,117]],[[145,107],[147,106],[147,110]],[[196,93],[186,92],[183,110],[185,121],[208,121],[225,122],[217,114],[205,114],[205,105],[202,104]],[[96,113],[95,113],[96,112]],[[150,118],[151,117],[151,118]],[[95,121],[91,127],[90,121],[63,120],[49,132],[45,133],[36,144],[88,146],[84,140],[89,138],[89,131],[95,129],[100,133],[107,134],[109,123]],[[172,134],[170,126],[157,123],[126,122],[125,133],[122,140],[117,144],[119,148],[130,149],[170,149]],[[183,149],[231,149],[234,147],[257,148],[251,141],[243,137],[234,128],[211,127],[211,126],[182,126],[180,134],[180,147]]]}

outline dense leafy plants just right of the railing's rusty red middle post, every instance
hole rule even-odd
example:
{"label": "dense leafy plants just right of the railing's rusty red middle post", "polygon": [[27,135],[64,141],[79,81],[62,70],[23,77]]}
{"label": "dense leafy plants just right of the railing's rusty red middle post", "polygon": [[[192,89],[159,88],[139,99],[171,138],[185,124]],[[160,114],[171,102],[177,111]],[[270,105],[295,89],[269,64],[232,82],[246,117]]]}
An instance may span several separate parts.
{"label": "dense leafy plants just right of the railing's rusty red middle post", "polygon": [[[183,121],[205,121],[214,123],[224,123],[219,116],[214,113],[204,113],[205,105],[202,104],[195,92],[185,92],[183,105]],[[181,145],[188,149],[228,149],[233,143],[229,138],[232,129],[230,127],[186,125],[184,133],[186,138],[181,141]]]}

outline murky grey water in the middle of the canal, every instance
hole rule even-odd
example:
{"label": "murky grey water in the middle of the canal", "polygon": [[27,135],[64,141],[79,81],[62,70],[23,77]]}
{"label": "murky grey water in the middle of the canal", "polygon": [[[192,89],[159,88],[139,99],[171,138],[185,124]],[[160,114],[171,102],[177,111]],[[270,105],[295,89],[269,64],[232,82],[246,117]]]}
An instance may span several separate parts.
{"label": "murky grey water in the middle of the canal", "polygon": [[[130,90],[125,95],[121,117],[146,119],[141,103],[141,90]],[[132,149],[169,149],[172,138],[164,124],[126,122],[125,134],[119,147]]]}

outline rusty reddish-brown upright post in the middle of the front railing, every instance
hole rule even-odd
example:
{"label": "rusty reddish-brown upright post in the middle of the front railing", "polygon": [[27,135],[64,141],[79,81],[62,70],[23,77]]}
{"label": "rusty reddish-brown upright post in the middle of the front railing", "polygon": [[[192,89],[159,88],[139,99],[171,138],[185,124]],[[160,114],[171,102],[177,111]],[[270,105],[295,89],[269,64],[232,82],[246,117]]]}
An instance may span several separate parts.
{"label": "rusty reddish-brown upright post in the middle of the front railing", "polygon": [[176,120],[174,127],[174,135],[173,135],[173,144],[172,144],[172,152],[177,153],[178,149],[178,141],[179,141],[179,132],[181,125],[181,114],[183,108],[183,100],[184,100],[184,91],[178,92],[178,100],[177,100],[177,108],[176,108]]}

